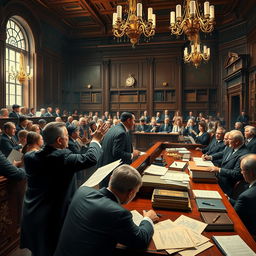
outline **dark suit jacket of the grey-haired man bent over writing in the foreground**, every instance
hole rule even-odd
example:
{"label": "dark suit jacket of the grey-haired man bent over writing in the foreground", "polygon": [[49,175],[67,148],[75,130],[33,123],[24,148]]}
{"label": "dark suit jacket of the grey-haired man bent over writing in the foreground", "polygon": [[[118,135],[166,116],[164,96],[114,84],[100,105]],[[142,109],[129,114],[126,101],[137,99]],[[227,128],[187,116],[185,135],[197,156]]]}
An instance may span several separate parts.
{"label": "dark suit jacket of the grey-haired man bent over writing in the foreground", "polygon": [[151,223],[135,225],[112,192],[83,186],[69,207],[54,256],[111,256],[117,243],[144,249],[152,235]]}

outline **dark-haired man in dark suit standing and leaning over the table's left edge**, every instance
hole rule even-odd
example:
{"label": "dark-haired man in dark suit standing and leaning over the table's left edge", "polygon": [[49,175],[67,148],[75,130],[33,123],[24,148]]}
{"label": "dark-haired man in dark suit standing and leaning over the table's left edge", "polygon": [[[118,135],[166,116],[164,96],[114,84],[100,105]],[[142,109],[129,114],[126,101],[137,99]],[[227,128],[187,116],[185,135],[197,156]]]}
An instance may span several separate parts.
{"label": "dark-haired man in dark suit standing and leaning over the table's left edge", "polygon": [[135,117],[132,113],[123,112],[121,122],[109,129],[102,141],[101,166],[112,163],[118,159],[123,164],[131,164],[132,159],[139,155],[138,150],[132,147],[130,131],[135,124]]}

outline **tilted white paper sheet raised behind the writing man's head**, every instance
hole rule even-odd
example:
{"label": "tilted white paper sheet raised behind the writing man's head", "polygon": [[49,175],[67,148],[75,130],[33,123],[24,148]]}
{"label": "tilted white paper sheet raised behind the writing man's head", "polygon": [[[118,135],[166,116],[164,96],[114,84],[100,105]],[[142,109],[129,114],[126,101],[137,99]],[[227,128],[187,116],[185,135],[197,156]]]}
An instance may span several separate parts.
{"label": "tilted white paper sheet raised behind the writing man's head", "polygon": [[121,160],[117,160],[108,165],[104,165],[97,169],[94,174],[82,185],[87,187],[97,186],[108,174],[110,174],[118,165],[120,165]]}

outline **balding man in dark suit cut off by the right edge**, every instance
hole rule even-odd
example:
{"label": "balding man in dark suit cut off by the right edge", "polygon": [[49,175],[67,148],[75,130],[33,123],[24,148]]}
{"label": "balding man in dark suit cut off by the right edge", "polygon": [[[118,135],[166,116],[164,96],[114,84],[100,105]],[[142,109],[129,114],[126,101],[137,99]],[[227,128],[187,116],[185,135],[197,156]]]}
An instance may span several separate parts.
{"label": "balding man in dark suit cut off by the right edge", "polygon": [[241,161],[241,172],[249,188],[239,195],[235,210],[249,232],[256,236],[256,155],[245,156]]}

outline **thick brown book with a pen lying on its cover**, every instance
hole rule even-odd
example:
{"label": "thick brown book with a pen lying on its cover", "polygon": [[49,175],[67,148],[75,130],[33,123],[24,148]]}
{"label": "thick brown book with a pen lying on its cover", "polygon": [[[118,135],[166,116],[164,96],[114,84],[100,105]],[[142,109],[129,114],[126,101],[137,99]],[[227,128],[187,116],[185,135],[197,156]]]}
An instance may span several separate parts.
{"label": "thick brown book with a pen lying on its cover", "polygon": [[234,223],[225,212],[201,212],[201,217],[207,224],[205,231],[234,230]]}

